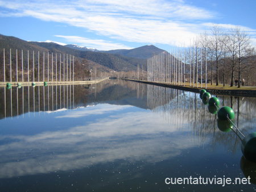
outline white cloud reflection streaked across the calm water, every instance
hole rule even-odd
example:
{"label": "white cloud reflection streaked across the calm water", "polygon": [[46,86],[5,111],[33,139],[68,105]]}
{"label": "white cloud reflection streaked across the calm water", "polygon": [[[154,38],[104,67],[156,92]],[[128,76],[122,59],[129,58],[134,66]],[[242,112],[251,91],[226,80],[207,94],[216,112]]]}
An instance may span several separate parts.
{"label": "white cloud reflection streaked across the calm water", "polygon": [[0,147],[0,178],[82,169],[115,160],[143,159],[155,163],[179,155],[182,149],[195,147],[192,141],[178,139],[176,127],[152,111],[122,112],[129,107],[97,105],[58,118],[81,118],[89,112],[117,113],[68,130],[1,136],[0,141],[10,142]]}

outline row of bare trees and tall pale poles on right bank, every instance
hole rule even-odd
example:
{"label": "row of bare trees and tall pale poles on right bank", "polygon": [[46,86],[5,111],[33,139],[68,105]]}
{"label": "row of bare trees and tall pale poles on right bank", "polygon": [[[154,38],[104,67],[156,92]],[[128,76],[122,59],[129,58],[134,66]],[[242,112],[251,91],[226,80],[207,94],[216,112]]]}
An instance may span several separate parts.
{"label": "row of bare trees and tall pale poles on right bank", "polygon": [[[147,81],[184,84],[185,81],[223,86],[256,85],[256,53],[247,31],[216,24],[187,48],[176,47],[148,59]],[[122,77],[144,79],[142,69]],[[198,86],[198,85],[197,85]]]}

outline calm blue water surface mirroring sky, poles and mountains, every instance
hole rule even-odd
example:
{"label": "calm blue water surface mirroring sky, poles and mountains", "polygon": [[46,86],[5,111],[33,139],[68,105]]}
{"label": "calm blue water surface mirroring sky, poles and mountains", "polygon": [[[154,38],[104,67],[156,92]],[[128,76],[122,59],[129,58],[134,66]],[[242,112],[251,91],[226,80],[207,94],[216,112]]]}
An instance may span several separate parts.
{"label": "calm blue water surface mirroring sky, poles and mountains", "polygon": [[[256,98],[218,98],[244,135],[256,131]],[[109,80],[1,88],[0,99],[1,191],[256,191],[256,164],[199,94]]]}

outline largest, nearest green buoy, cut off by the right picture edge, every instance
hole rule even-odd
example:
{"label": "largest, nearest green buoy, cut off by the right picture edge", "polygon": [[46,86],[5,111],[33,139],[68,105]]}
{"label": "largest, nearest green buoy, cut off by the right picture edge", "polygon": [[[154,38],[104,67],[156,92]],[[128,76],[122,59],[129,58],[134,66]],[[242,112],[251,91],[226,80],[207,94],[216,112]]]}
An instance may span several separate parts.
{"label": "largest, nearest green buoy, cut off by the right picture edge", "polygon": [[247,161],[256,162],[256,132],[243,138],[241,150]]}

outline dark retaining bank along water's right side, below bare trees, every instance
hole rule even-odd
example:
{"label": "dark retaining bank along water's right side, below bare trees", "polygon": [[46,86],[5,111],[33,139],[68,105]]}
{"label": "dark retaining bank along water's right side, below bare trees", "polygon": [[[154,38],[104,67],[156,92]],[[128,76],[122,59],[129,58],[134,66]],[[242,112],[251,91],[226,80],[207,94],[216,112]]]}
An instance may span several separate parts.
{"label": "dark retaining bank along water's right side, below bare trees", "polygon": [[[150,82],[150,81],[142,81],[142,80],[131,80],[131,79],[126,79],[126,78],[120,78],[122,80],[127,80],[127,81],[134,81],[134,82],[141,82],[143,84],[148,84],[148,85],[156,85],[156,86],[162,86],[162,87],[170,87],[174,89],[179,89],[179,90],[184,90],[184,91],[191,91],[194,93],[199,93],[201,89],[203,88],[197,88],[197,87],[191,87],[191,86],[179,86],[179,85],[171,85],[171,84],[163,84],[159,82]],[[256,90],[246,90],[246,89],[205,89],[207,90],[210,94],[214,95],[230,95],[230,96],[237,96],[237,97],[256,97]]]}

